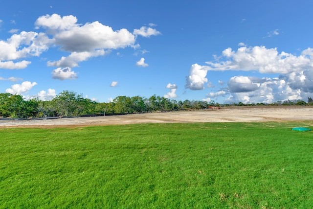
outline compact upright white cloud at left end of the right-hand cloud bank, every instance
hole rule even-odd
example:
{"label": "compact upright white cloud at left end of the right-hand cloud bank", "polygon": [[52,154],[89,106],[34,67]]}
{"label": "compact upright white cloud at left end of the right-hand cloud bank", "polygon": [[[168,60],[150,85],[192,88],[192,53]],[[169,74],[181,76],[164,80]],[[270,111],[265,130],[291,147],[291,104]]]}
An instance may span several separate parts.
{"label": "compact upright white cloud at left end of the right-hand cloud bank", "polygon": [[189,76],[186,77],[186,89],[191,90],[203,90],[204,83],[207,82],[205,77],[207,70],[203,69],[202,66],[194,64],[189,70]]}

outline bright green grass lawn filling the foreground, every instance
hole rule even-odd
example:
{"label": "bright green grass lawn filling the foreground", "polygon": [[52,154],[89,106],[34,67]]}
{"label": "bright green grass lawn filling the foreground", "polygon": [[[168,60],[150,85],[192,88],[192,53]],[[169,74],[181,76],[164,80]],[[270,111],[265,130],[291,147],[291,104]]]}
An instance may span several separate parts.
{"label": "bright green grass lawn filling the foreground", "polygon": [[312,124],[0,129],[0,208],[313,208]]}

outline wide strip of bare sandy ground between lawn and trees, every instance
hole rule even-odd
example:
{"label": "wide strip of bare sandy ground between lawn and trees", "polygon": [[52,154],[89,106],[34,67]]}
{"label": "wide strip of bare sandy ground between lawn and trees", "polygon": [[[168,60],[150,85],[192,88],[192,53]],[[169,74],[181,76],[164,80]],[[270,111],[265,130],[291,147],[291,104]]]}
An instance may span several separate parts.
{"label": "wide strip of bare sandy ground between lawn and trees", "polygon": [[301,121],[313,120],[313,107],[309,106],[264,106],[264,107],[222,107],[202,111],[178,111],[165,113],[145,113],[123,116],[97,116],[59,118],[47,120],[5,120],[0,128],[59,127],[120,125],[134,123],[188,123],[188,122],[251,122],[251,121]]}

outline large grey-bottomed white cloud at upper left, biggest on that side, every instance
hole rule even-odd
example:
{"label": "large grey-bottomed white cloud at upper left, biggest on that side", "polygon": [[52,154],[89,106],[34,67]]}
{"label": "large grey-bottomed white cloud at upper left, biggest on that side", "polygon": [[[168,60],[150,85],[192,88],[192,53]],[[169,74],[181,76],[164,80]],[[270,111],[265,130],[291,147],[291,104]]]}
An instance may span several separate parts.
{"label": "large grey-bottomed white cloud at upper left, biggest on that side", "polygon": [[93,51],[95,49],[116,49],[132,46],[134,35],[122,28],[113,31],[112,27],[99,22],[77,24],[77,18],[69,15],[45,15],[37,19],[38,27],[47,28],[53,34],[55,44],[65,51]]}

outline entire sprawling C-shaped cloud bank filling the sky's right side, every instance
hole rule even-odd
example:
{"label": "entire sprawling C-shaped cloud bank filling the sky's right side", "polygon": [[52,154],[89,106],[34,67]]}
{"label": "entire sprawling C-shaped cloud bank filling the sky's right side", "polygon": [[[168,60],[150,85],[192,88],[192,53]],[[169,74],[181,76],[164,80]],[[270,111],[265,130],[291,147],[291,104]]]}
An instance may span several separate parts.
{"label": "entire sprawling C-shaped cloud bank filling the sky's right side", "polygon": [[[228,94],[229,97],[225,102],[272,103],[312,96],[312,48],[307,48],[296,56],[286,52],[279,53],[276,48],[244,46],[238,48],[237,51],[226,48],[221,57],[215,57],[217,58],[215,62],[206,62],[206,66],[194,64],[191,67],[186,88],[202,90],[203,84],[207,81],[205,80],[206,73],[210,70],[259,71],[260,73],[280,75],[274,78],[233,76],[228,80],[227,87],[219,91],[223,95],[209,93],[207,94],[208,98]],[[220,61],[222,58],[223,60]]]}

